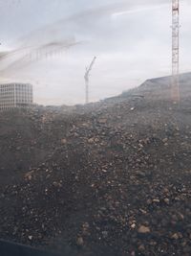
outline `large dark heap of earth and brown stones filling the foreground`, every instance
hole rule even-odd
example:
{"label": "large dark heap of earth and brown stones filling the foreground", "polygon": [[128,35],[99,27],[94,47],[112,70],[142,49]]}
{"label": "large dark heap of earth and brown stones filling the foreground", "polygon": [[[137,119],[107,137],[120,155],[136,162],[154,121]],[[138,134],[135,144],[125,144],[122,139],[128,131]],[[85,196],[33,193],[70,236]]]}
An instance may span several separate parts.
{"label": "large dark heap of earth and brown stones filling the foreground", "polygon": [[17,115],[46,153],[0,189],[1,238],[63,255],[191,254],[191,98]]}

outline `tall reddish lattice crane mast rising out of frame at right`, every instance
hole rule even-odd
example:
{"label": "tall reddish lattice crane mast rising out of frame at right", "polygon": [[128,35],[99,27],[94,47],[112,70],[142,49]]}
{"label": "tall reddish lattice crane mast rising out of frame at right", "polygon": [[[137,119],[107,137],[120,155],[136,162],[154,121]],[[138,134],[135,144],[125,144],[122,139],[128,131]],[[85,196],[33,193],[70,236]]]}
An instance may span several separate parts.
{"label": "tall reddish lattice crane mast rising out of frame at right", "polygon": [[179,81],[179,46],[180,46],[180,3],[172,0],[172,97],[173,101],[180,100]]}

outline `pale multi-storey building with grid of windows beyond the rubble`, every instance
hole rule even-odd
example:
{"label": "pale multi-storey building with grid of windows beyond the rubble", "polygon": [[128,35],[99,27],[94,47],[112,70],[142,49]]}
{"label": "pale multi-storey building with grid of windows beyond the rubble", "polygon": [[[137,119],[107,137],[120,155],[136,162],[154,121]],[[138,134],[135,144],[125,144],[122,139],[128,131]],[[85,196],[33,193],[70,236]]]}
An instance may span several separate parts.
{"label": "pale multi-storey building with grid of windows beyond the rubble", "polygon": [[0,84],[0,110],[15,107],[30,107],[33,103],[32,84],[4,83]]}

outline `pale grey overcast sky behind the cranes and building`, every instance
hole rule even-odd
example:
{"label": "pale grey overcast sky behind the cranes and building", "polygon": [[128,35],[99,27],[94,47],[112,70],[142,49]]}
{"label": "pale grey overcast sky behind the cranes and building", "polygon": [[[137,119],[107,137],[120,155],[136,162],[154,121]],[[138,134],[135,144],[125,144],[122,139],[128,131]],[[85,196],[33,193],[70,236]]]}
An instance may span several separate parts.
{"label": "pale grey overcast sky behind the cranes and building", "polygon": [[[191,1],[180,0],[180,71],[190,71]],[[83,104],[84,73],[96,56],[90,100],[171,72],[171,0],[0,0],[1,51],[64,41],[52,57],[0,63],[0,80],[31,82],[43,105]],[[17,61],[17,62],[15,62]],[[13,64],[12,64],[13,63]],[[16,64],[15,64],[16,63]]]}

